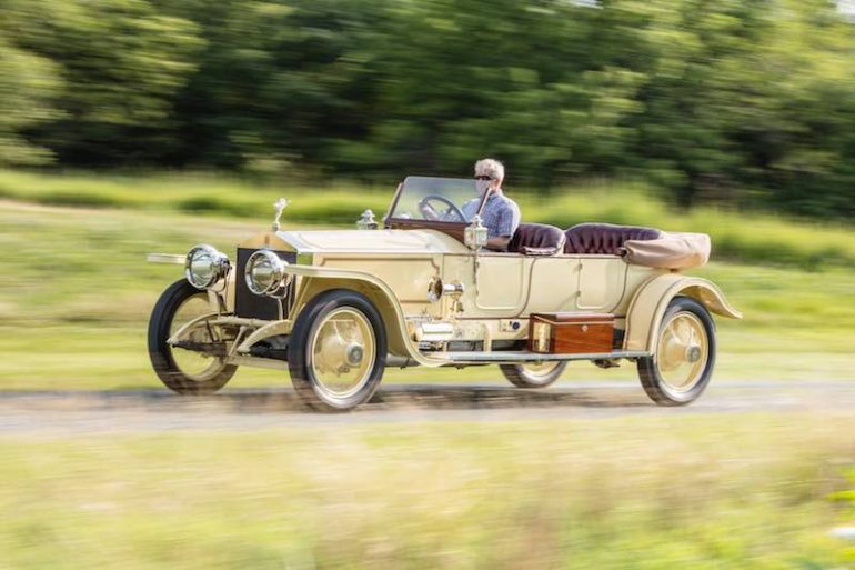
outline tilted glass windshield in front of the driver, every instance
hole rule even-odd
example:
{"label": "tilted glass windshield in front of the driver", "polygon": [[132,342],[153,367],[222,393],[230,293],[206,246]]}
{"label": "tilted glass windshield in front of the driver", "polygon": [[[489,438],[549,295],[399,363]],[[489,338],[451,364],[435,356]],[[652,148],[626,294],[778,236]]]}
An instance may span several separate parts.
{"label": "tilted glass windshield in front of the driver", "polygon": [[469,222],[481,206],[475,181],[465,178],[406,177],[390,218]]}

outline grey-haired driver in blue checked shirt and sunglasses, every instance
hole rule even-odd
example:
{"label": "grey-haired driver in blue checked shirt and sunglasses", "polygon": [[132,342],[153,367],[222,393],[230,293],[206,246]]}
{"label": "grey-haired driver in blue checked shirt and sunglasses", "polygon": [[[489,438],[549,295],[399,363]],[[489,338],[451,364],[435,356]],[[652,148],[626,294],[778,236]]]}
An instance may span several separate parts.
{"label": "grey-haired driver in blue checked shirt and sunglasses", "polygon": [[506,251],[511,237],[520,226],[520,207],[502,192],[505,167],[495,159],[482,159],[475,162],[475,186],[480,197],[463,204],[466,219],[477,213],[477,207],[487,193],[481,220],[487,229],[486,247],[495,251]]}

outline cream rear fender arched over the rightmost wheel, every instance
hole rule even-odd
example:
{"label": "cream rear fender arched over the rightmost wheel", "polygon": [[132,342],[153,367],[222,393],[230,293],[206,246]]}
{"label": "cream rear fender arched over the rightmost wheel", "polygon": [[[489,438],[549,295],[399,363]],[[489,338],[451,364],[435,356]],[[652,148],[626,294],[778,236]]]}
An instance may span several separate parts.
{"label": "cream rear fender arched over the rightmost wheel", "polygon": [[671,300],[680,294],[698,301],[712,313],[742,319],[742,313],[731,307],[724,293],[711,281],[667,273],[651,279],[636,291],[626,312],[624,350],[655,352],[662,318]]}

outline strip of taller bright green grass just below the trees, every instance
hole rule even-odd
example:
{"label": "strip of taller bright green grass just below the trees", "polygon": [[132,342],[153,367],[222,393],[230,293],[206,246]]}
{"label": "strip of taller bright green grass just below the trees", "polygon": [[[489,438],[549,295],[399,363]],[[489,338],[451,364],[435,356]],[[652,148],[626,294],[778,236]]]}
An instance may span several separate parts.
{"label": "strip of taller bright green grass just below the trees", "polygon": [[[346,182],[308,187],[285,181],[258,183],[215,173],[37,174],[0,170],[0,197],[50,204],[122,208],[266,222],[280,196],[292,200],[292,222],[352,224],[365,208],[381,217],[398,180],[382,187]],[[796,222],[775,216],[716,208],[676,211],[634,182],[591,181],[542,196],[537,189],[511,188],[527,221],[561,228],[585,221],[644,224],[672,231],[697,231],[713,238],[716,259],[776,263],[814,270],[855,263],[852,227]]]}

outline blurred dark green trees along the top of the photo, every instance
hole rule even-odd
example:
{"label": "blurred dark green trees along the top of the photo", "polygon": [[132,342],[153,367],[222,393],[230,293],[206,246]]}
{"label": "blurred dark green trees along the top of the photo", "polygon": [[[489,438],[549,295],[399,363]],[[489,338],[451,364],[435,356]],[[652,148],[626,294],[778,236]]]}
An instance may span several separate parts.
{"label": "blurred dark green trees along the top of the photo", "polygon": [[0,163],[645,177],[855,212],[829,0],[0,0]]}

